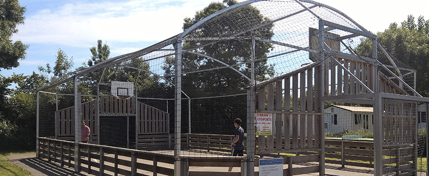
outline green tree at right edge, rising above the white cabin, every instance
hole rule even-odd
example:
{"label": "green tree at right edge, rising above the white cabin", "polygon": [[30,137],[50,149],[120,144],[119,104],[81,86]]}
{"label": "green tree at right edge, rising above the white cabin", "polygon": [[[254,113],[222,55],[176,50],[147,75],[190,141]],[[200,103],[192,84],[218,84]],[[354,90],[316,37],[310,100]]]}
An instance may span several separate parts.
{"label": "green tree at right edge, rising above the white cabin", "polygon": [[[400,26],[390,24],[384,32],[377,34],[378,42],[395,58],[417,70],[416,91],[423,97],[429,96],[429,20],[423,16],[415,24],[414,17],[408,16]],[[358,55],[372,56],[371,40],[363,40],[356,48]],[[390,63],[379,50],[378,58],[382,63]],[[402,67],[406,67],[402,66]]]}

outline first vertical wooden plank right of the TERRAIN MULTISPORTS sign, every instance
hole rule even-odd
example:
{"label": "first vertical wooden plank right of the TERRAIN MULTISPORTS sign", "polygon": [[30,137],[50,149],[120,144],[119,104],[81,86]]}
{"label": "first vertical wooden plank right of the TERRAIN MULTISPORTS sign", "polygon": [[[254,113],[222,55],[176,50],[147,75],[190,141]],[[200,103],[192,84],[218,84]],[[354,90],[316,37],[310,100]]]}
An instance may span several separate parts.
{"label": "first vertical wooden plank right of the TERRAIN MULTISPORTS sign", "polygon": [[[276,82],[276,110],[283,111],[283,101],[282,101],[282,80]],[[282,114],[276,114],[276,149],[282,149]]]}

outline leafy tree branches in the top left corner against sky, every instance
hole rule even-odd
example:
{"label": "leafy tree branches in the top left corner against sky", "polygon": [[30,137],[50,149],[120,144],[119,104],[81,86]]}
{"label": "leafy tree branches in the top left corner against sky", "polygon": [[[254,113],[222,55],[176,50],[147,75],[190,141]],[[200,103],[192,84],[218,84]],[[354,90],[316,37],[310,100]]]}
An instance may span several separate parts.
{"label": "leafy tree branches in the top left corner against sky", "polygon": [[28,45],[13,42],[12,35],[18,33],[17,26],[24,24],[26,9],[17,0],[0,1],[0,71],[19,66],[19,59],[25,59]]}

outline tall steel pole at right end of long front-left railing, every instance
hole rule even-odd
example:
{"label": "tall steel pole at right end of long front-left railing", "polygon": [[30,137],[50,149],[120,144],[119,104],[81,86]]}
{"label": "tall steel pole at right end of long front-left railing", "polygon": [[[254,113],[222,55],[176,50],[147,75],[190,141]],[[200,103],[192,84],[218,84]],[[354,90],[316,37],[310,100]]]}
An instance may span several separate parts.
{"label": "tall steel pole at right end of long front-left railing", "polygon": [[176,41],[174,43],[176,50],[175,61],[175,124],[174,124],[174,175],[181,175],[181,162],[180,162],[180,140],[181,140],[181,114],[182,114],[182,42]]}

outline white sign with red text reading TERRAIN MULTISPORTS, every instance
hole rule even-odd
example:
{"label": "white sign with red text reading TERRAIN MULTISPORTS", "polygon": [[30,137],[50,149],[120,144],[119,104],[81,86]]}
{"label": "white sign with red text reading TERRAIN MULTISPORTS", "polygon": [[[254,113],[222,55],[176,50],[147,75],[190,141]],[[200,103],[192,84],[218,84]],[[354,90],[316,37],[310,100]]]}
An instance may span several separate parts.
{"label": "white sign with red text reading TERRAIN MULTISPORTS", "polygon": [[273,113],[255,113],[256,136],[273,135]]}

